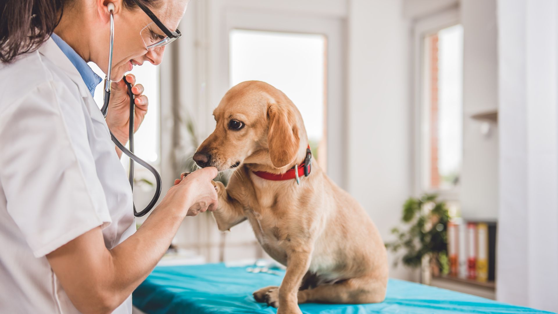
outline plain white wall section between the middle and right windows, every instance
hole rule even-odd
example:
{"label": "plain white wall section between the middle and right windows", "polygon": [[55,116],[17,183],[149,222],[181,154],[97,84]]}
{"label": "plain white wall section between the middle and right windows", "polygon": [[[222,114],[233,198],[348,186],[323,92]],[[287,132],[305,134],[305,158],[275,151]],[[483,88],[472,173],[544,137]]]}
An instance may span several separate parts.
{"label": "plain white wall section between the middle and right windows", "polygon": [[[402,4],[349,1],[347,185],[384,240],[411,191],[410,30]],[[390,272],[414,278],[410,269]]]}

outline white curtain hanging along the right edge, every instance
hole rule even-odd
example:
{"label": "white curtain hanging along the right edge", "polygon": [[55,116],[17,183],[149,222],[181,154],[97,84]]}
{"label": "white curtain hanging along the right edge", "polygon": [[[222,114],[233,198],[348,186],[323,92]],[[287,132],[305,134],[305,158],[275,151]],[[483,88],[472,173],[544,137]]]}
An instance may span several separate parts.
{"label": "white curtain hanging along the right edge", "polygon": [[558,312],[558,3],[498,4],[497,299]]}

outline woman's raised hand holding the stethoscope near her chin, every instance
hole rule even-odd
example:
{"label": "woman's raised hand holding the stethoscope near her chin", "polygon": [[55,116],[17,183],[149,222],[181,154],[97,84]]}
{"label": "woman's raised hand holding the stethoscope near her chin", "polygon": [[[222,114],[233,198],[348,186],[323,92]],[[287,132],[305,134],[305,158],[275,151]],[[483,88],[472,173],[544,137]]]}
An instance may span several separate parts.
{"label": "woman's raised hand holding the stethoscope near her chin", "polygon": [[[134,132],[138,130],[143,118],[147,113],[147,96],[142,95],[143,85],[136,84],[136,77],[133,74],[126,75],[127,82],[132,84],[134,103],[136,103],[136,115],[134,117]],[[128,130],[130,122],[130,97],[128,87],[123,80],[112,82],[110,85],[110,101],[108,103],[107,125],[112,134],[122,143],[128,141]],[[120,154],[119,154],[120,155]]]}

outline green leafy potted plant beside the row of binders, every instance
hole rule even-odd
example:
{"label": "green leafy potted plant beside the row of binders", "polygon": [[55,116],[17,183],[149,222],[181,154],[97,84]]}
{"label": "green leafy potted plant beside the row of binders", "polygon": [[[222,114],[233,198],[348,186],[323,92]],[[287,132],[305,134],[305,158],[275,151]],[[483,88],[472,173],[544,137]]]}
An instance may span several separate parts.
{"label": "green leafy potted plant beside the row of binders", "polygon": [[[386,242],[389,251],[404,251],[394,264],[401,261],[412,268],[430,267],[434,275],[447,274],[449,262],[446,231],[449,220],[448,208],[445,202],[437,200],[436,194],[408,198],[403,204],[401,217],[404,227],[394,227],[391,233],[396,239]],[[425,280],[426,278],[421,279],[422,282]]]}

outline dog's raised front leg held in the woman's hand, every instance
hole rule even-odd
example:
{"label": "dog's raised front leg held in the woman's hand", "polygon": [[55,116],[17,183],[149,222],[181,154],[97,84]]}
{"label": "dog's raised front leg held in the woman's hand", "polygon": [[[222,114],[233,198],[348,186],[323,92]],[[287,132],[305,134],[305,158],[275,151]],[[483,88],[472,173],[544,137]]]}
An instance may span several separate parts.
{"label": "dog's raised front leg held in the woman's hand", "polygon": [[215,182],[215,186],[217,187],[218,204],[217,210],[213,212],[213,217],[215,222],[217,222],[219,230],[227,231],[246,220],[244,208],[240,202],[227,192],[223,183]]}

